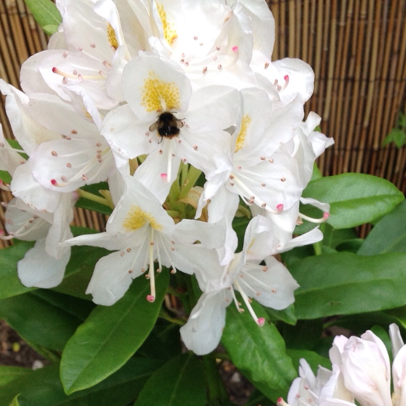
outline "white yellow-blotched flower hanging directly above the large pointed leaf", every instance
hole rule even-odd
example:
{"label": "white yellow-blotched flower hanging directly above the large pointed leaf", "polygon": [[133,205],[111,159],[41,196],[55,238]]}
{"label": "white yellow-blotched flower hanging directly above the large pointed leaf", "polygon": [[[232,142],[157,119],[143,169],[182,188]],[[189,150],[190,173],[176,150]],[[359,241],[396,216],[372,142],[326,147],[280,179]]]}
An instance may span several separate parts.
{"label": "white yellow-blotched flower hanging directly above the large pointed leaf", "polygon": [[[175,225],[156,197],[132,177],[125,177],[124,193],[106,225],[106,232],[80,235],[67,240],[71,245],[91,245],[115,252],[101,258],[94,269],[86,293],[93,301],[110,306],[127,291],[132,279],[143,274],[150,280],[151,293],[147,300],[155,300],[154,261],[157,272],[162,265],[175,273],[177,269],[191,274],[193,268],[183,267],[183,255],[193,257],[197,239],[212,247],[224,243],[221,230],[213,238],[211,227],[196,222],[195,227]],[[185,221],[185,220],[184,220]],[[177,233],[177,227],[181,231]],[[187,227],[187,226],[186,226]],[[220,232],[219,232],[220,231]],[[183,233],[187,233],[182,236]],[[205,235],[206,234],[206,235]],[[179,238],[178,238],[179,235]]]}

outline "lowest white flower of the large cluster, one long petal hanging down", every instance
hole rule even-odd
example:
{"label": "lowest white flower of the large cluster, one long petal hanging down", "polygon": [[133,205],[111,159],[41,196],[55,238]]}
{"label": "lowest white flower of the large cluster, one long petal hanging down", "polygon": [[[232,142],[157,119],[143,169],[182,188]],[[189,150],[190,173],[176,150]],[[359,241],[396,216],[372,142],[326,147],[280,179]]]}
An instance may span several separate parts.
{"label": "lowest white flower of the large cluster, one long petal hanging down", "polygon": [[[243,251],[235,254],[229,264],[221,266],[217,255],[208,252],[204,268],[196,270],[203,293],[180,330],[186,347],[196,354],[207,354],[219,344],[229,304],[234,302],[239,312],[245,310],[234,291],[241,294],[244,307],[258,326],[263,326],[265,320],[255,314],[251,298],[277,310],[293,303],[293,292],[299,285],[288,269],[270,255],[273,247],[267,244],[266,227],[265,218],[255,217],[247,227]],[[265,265],[260,264],[262,260]]]}

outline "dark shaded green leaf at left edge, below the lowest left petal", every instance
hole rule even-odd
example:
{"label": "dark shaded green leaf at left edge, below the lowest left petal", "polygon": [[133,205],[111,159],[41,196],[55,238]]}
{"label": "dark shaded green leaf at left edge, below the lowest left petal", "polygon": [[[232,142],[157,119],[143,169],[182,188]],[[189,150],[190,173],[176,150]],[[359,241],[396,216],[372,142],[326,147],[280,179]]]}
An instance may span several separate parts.
{"label": "dark shaded green leaf at left edge, below the lowest left petal", "polygon": [[0,300],[0,317],[24,339],[62,351],[82,320],[72,314],[72,307],[80,306],[80,299],[60,296],[54,292],[28,292]]}

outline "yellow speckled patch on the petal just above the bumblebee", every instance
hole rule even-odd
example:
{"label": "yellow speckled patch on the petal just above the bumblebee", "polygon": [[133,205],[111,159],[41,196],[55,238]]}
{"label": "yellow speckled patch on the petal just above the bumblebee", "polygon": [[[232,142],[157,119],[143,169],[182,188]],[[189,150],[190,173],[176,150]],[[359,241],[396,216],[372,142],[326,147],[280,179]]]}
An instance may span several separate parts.
{"label": "yellow speckled patch on the petal just above the bumblebee", "polygon": [[141,106],[147,112],[174,111],[180,109],[179,88],[175,82],[164,82],[159,80],[155,72],[150,72],[148,79],[145,79],[141,88]]}

